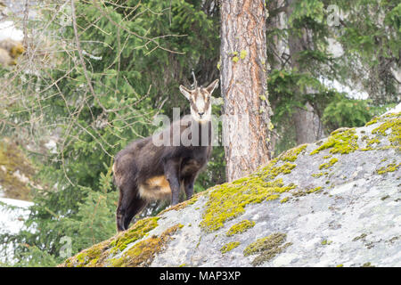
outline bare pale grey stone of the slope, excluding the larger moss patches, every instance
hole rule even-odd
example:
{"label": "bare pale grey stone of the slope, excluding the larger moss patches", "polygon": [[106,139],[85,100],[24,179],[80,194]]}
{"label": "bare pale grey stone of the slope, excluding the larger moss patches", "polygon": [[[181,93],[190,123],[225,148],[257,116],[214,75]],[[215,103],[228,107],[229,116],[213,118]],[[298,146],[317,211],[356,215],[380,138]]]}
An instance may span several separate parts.
{"label": "bare pale grey stone of the slope, excluding the larger moss patches", "polygon": [[[158,225],[142,239],[129,243],[123,250],[107,252],[102,263],[94,265],[113,265],[112,260],[127,256],[143,240],[160,237],[171,226],[181,224],[163,248],[141,265],[400,266],[399,116],[398,113],[381,117],[364,127],[333,132],[328,139],[308,144],[290,162],[296,165],[291,173],[272,179],[282,179],[284,185],[293,183],[294,189],[283,191],[278,199],[250,203],[241,215],[227,219],[217,230],[209,231],[201,223],[211,193],[220,189],[218,185],[184,208],[165,211]],[[337,150],[351,146],[352,151],[341,154],[335,151],[336,146],[324,149],[327,142],[335,141],[336,134],[348,133],[354,139],[357,135],[357,140],[346,142],[338,138],[344,143]],[[323,150],[311,154],[319,147]],[[279,157],[275,166],[284,163],[287,162]],[[226,199],[235,199],[235,195],[233,192],[233,197],[227,195]],[[254,222],[254,226],[226,235],[243,220]],[[284,237],[283,240],[271,248],[264,243],[261,251],[245,254],[252,243],[274,234]],[[237,247],[222,253],[221,248],[233,241]],[[77,260],[71,257],[68,264],[78,265]]]}

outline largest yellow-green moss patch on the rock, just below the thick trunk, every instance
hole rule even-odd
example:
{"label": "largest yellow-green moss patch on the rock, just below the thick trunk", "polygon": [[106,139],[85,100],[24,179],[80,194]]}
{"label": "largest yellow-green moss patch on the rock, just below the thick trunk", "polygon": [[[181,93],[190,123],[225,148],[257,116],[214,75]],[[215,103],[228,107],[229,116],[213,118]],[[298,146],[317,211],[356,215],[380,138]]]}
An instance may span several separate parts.
{"label": "largest yellow-green moss patch on the rock, just below the thick trunk", "polygon": [[269,181],[279,174],[287,174],[295,165],[284,164],[274,167],[276,161],[249,177],[217,185],[209,190],[209,200],[201,221],[201,227],[208,232],[221,228],[225,221],[240,216],[249,204],[278,199],[280,193],[296,186],[284,186],[282,179]]}

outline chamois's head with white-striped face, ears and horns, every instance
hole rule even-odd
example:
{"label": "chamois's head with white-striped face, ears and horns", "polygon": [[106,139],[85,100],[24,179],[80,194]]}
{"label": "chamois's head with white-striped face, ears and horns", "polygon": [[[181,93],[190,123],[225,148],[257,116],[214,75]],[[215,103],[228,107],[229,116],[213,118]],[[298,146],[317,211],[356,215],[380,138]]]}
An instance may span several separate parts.
{"label": "chamois's head with white-striped face, ears and horns", "polygon": [[211,94],[218,85],[218,79],[213,81],[208,87],[203,87],[198,86],[193,71],[192,76],[194,89],[189,90],[183,85],[180,85],[180,91],[191,103],[192,118],[200,123],[207,122],[210,120],[211,115]]}

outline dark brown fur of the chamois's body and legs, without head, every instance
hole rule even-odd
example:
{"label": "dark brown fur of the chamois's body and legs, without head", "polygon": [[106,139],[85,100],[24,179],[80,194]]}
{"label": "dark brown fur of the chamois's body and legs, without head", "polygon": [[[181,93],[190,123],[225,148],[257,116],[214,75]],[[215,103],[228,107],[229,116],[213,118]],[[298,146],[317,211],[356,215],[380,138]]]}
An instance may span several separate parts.
{"label": "dark brown fur of the chamois's body and legs, without head", "polygon": [[[185,116],[180,121],[172,124],[170,129],[170,144],[173,142],[173,125],[179,125],[180,134],[193,124],[199,124],[199,137],[194,140],[194,145],[184,146],[156,146],[152,137],[131,142],[127,147],[119,151],[115,157],[114,182],[119,187],[119,207],[117,208],[117,229],[127,230],[132,218],[146,205],[148,200],[141,197],[140,185],[147,186],[152,177],[164,176],[171,189],[172,205],[178,203],[181,186],[184,186],[186,199],[190,199],[193,193],[193,183],[206,166],[211,146],[211,122],[200,124],[191,116]],[[201,146],[201,130],[208,127],[209,143]],[[167,135],[168,130],[160,134]],[[192,132],[192,131],[191,131]],[[155,134],[155,135],[160,135]],[[204,133],[205,134],[205,133]],[[192,137],[192,133],[190,135]],[[199,140],[198,140],[199,139]],[[198,143],[196,143],[198,141]],[[160,190],[158,186],[148,188],[149,191]]]}

